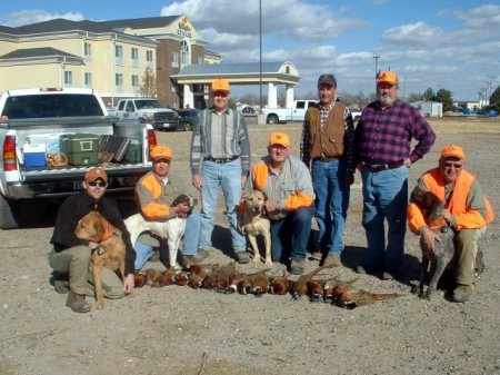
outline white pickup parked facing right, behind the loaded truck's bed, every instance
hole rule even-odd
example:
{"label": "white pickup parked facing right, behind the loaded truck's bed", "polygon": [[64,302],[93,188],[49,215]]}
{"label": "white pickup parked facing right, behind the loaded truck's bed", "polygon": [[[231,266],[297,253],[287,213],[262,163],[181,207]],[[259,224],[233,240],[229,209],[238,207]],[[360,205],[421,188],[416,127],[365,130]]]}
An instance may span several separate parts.
{"label": "white pickup parked facing right, behind the loaded truck's bed", "polygon": [[110,109],[109,114],[122,119],[151,124],[154,130],[177,130],[179,126],[177,111],[164,107],[154,98],[121,99],[117,109]]}

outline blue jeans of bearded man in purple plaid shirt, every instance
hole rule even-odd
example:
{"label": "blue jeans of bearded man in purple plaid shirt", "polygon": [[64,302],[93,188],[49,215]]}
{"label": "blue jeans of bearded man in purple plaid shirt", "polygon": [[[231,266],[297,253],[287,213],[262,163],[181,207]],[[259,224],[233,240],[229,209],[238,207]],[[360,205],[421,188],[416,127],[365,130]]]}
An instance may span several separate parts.
{"label": "blue jeans of bearded man in purple plaid shirt", "polygon": [[[363,219],[367,234],[367,267],[400,270],[407,230],[409,168],[362,172]],[[384,219],[388,223],[387,248]]]}

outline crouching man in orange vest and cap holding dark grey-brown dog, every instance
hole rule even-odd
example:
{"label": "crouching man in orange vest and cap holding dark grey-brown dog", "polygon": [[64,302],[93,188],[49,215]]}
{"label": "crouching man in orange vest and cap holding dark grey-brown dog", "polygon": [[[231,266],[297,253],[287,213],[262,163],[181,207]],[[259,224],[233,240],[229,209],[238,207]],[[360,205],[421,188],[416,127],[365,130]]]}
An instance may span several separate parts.
{"label": "crouching man in orange vest and cap holding dark grey-brown dog", "polygon": [[[482,254],[478,239],[493,220],[490,201],[483,196],[476,177],[463,169],[466,155],[460,146],[446,146],[439,166],[424,172],[418,186],[437,195],[443,206],[443,218],[454,231],[456,288],[451,299],[468,300],[472,294],[474,269],[482,272]],[[424,246],[432,251],[438,236],[429,228],[429,217],[414,201],[407,209],[410,229],[422,237]]]}

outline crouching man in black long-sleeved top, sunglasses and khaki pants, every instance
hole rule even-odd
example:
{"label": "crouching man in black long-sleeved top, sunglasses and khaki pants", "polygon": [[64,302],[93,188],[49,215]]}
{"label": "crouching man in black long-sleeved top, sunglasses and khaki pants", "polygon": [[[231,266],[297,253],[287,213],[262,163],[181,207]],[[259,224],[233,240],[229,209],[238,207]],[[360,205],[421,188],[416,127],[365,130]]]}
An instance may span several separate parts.
{"label": "crouching man in black long-sleeved top, sunglasses and khaki pants", "polygon": [[96,210],[113,227],[121,231],[126,244],[126,278],[121,278],[110,268],[102,268],[102,288],[104,297],[121,298],[134,287],[133,263],[136,251],[130,243],[130,234],[113,200],[104,196],[108,175],[102,168],[90,168],[82,182],[83,190],[68,197],[61,205],[56,219],[50,243],[49,264],[54,272],[54,288],[60,294],[68,294],[66,305],[76,313],[87,313],[90,305],[86,295],[93,296],[91,253],[98,243],[80,239],[74,235],[78,221],[88,213]]}

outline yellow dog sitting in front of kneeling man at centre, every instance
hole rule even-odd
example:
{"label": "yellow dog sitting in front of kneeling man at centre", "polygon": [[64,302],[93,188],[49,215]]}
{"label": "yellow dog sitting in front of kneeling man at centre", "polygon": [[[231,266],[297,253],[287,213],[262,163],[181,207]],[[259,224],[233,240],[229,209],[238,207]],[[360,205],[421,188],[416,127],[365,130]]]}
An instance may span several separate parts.
{"label": "yellow dog sitting in front of kneeling man at centre", "polygon": [[259,190],[244,193],[242,200],[244,211],[241,218],[241,230],[247,235],[253,249],[253,261],[260,261],[257,236],[262,236],[266,246],[266,266],[271,266],[271,221],[266,216],[266,195]]}

